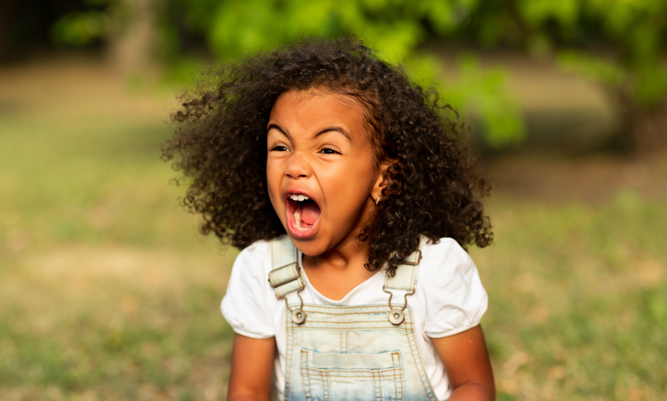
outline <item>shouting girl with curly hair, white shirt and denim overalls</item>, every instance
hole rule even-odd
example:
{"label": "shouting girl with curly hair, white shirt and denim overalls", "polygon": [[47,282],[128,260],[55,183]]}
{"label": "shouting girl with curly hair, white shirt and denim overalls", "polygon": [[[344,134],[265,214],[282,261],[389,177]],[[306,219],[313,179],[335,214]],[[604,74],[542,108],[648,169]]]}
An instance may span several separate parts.
{"label": "shouting girl with curly hair, white shirt and denim overalls", "polygon": [[456,121],[353,39],[224,67],[165,157],[203,232],[241,249],[221,309],[228,400],[494,400],[492,240]]}

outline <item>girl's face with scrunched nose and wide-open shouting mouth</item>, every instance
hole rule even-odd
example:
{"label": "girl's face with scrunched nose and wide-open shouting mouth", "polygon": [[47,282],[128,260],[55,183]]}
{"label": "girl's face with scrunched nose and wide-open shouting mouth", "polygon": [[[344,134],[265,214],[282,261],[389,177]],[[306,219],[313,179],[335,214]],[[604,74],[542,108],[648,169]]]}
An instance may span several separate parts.
{"label": "girl's face with scrunched nose and wide-open shouting mouth", "polygon": [[376,208],[386,165],[376,163],[364,108],[327,91],[281,93],[267,125],[269,197],[308,256],[354,240]]}

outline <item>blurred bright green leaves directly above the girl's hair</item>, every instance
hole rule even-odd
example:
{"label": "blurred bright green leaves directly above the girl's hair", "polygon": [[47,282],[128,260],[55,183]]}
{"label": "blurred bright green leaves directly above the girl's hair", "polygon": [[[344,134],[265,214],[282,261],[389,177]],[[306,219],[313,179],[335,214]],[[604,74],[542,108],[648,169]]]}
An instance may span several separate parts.
{"label": "blurred bright green leaves directly above the girl's hair", "polygon": [[456,29],[470,12],[465,0],[249,0],[219,3],[208,33],[222,57],[271,47],[301,35],[335,37],[356,33],[389,61],[402,61],[428,35]]}

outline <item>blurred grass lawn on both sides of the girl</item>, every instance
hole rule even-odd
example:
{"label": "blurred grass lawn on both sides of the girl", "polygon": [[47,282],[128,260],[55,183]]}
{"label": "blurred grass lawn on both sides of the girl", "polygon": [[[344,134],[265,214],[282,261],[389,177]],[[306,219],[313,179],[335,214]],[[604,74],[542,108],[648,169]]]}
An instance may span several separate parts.
{"label": "blurred grass lawn on both sides of the girl", "polygon": [[[223,400],[237,251],[197,234],[159,160],[173,96],[85,60],[0,86],[0,401]],[[595,202],[489,200],[496,242],[470,253],[499,400],[667,399],[667,196],[642,189],[667,165],[648,171]]]}

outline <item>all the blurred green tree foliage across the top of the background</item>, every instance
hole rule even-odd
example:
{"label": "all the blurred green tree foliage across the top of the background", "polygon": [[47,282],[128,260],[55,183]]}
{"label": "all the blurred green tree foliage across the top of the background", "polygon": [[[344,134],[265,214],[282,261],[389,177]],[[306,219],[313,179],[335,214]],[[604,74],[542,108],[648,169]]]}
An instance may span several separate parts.
{"label": "all the blurred green tree foliage across the top of the background", "polygon": [[[151,0],[87,0],[91,5]],[[618,99],[624,132],[639,149],[667,144],[667,1],[664,0],[167,0],[155,20],[157,51],[177,59],[198,35],[221,59],[265,49],[301,35],[356,33],[380,56],[408,65],[412,75],[440,75],[420,52],[427,39],[481,47],[513,47],[554,57],[562,67],[592,77]],[[132,7],[125,7],[131,9]],[[137,7],[135,7],[137,9]],[[131,13],[130,13],[131,14]],[[107,15],[109,15],[107,13]],[[116,18],[122,13],[115,13]],[[125,13],[125,20],[129,19]],[[64,17],[55,37],[83,43],[109,35],[113,18],[98,11]],[[115,23],[115,26],[122,24]],[[107,28],[105,28],[107,27]],[[476,113],[488,143],[522,139],[516,101],[504,91],[502,71],[461,61],[461,79],[446,87],[448,100]],[[437,79],[436,79],[437,80]]]}

